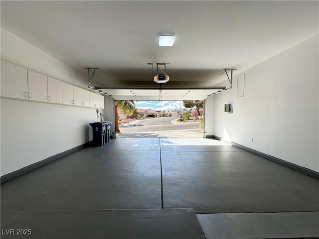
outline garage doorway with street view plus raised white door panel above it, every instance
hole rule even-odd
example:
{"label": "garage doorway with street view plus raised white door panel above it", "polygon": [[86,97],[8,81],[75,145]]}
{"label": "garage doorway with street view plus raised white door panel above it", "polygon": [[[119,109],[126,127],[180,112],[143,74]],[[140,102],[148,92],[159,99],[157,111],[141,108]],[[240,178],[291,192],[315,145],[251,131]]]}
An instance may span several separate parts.
{"label": "garage doorway with street view plus raised white door panel above it", "polygon": [[224,86],[95,89],[114,100],[116,137],[185,138],[204,137],[204,100],[227,90]]}

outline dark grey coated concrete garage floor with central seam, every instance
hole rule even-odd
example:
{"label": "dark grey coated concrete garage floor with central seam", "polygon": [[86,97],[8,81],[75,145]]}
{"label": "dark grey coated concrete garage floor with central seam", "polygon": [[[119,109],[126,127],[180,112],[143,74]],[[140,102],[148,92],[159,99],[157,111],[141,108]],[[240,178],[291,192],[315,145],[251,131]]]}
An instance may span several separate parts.
{"label": "dark grey coated concrete garage floor with central seam", "polygon": [[18,237],[29,239],[319,238],[319,180],[213,139],[117,138],[2,184],[1,238],[17,238],[10,229],[31,229]]}

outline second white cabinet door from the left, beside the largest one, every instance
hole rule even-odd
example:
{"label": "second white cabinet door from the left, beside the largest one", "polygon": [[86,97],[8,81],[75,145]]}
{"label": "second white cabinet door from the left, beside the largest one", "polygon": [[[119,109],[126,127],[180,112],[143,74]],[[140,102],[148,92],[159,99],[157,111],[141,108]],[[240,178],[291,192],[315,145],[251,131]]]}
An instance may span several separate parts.
{"label": "second white cabinet door from the left, beside the largest one", "polygon": [[32,101],[48,102],[48,78],[28,70],[28,98]]}

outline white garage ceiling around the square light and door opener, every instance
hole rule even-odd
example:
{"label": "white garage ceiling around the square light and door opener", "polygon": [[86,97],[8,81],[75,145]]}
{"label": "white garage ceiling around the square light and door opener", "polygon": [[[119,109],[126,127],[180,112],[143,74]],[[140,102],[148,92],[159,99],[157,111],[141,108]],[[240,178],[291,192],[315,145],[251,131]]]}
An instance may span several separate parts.
{"label": "white garage ceiling around the square light and door opener", "polygon": [[[171,87],[214,86],[318,33],[318,1],[3,1],[1,27],[85,72],[91,85],[155,87],[148,62],[170,63]],[[173,47],[158,46],[174,33]]]}

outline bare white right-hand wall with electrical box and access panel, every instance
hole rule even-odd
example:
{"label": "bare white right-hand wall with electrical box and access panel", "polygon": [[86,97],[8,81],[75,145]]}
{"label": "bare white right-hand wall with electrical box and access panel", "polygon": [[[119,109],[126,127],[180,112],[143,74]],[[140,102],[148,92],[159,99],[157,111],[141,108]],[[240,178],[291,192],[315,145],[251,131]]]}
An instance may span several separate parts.
{"label": "bare white right-hand wall with electrical box and access panel", "polygon": [[318,34],[242,74],[243,98],[236,98],[237,76],[233,89],[210,97],[213,134],[319,172]]}

